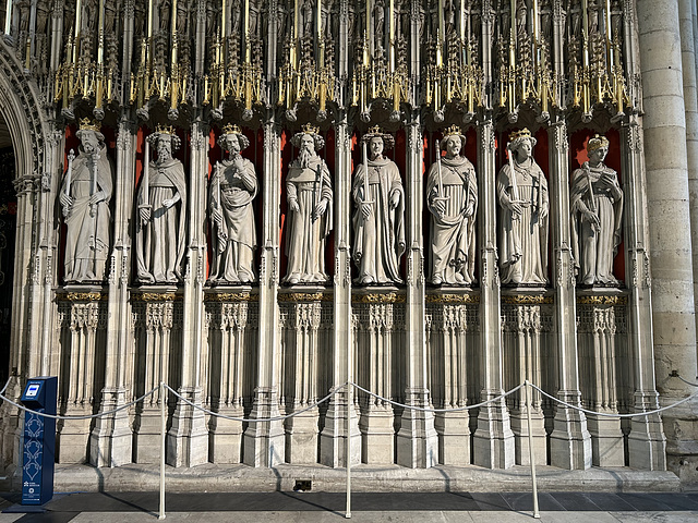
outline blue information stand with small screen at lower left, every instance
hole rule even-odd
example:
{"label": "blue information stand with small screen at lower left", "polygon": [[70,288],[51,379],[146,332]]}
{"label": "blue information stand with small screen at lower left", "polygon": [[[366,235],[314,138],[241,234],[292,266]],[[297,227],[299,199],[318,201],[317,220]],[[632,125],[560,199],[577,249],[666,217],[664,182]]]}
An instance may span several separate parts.
{"label": "blue information stand with small screen at lower left", "polygon": [[56,414],[58,378],[40,377],[27,381],[22,403],[37,413],[24,416],[22,446],[22,504],[44,504],[53,497],[56,419],[38,413]]}

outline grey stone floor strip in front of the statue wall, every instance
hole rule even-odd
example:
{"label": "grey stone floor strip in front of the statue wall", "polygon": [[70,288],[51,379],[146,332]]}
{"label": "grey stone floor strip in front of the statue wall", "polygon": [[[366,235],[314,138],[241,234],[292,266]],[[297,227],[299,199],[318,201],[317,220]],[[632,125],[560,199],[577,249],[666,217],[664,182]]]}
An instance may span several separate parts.
{"label": "grey stone floor strip in front of the statue wall", "polygon": [[[156,521],[157,492],[57,494],[44,512],[15,512],[20,495],[0,495],[0,523],[131,523]],[[698,495],[689,492],[541,492],[542,522],[698,522]],[[352,521],[390,523],[531,522],[526,492],[354,492]],[[323,522],[345,519],[342,492],[168,494],[166,521]]]}

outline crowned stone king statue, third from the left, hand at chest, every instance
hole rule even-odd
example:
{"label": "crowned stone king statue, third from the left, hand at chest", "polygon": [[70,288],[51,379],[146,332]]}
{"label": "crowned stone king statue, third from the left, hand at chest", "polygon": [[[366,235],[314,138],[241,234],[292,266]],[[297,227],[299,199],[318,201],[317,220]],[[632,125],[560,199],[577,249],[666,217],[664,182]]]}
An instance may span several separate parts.
{"label": "crowned stone king statue, third from the left, hand at chest", "polygon": [[226,125],[222,131],[218,144],[228,158],[216,163],[208,192],[214,244],[210,280],[251,283],[256,280],[252,200],[257,195],[257,178],[252,162],[240,156],[250,141],[237,125]]}

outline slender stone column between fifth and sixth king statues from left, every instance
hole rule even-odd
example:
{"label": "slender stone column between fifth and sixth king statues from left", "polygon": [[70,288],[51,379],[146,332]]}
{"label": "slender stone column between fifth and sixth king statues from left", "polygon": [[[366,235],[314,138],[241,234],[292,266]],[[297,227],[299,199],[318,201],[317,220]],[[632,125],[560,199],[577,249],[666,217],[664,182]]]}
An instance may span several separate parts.
{"label": "slender stone column between fifth and sixth king statues from left", "polygon": [[[424,245],[422,215],[422,132],[416,113],[407,127],[407,303],[405,327],[405,403],[429,409],[426,387],[426,338],[424,328]],[[430,467],[438,463],[438,436],[434,413],[405,409],[397,433],[397,463],[411,469]]]}

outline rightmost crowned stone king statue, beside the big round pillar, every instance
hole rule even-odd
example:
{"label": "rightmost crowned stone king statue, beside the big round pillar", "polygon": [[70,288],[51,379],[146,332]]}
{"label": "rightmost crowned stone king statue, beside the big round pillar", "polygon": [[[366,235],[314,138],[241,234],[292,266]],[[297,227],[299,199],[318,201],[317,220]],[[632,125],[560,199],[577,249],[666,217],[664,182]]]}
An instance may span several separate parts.
{"label": "rightmost crowned stone king statue, beside the big round pillar", "polygon": [[617,284],[613,258],[621,244],[623,191],[616,172],[603,163],[607,153],[609,141],[595,135],[587,144],[589,161],[573,173],[573,250],[582,285]]}

